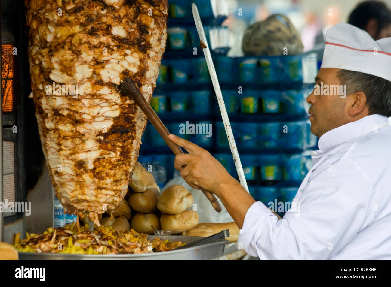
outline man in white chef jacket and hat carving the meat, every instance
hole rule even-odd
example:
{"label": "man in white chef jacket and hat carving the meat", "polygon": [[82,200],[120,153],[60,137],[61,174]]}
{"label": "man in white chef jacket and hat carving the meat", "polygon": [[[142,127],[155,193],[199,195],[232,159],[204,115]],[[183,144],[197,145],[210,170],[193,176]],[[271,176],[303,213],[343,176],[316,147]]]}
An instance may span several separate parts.
{"label": "man in white chef jacket and hat carving the meat", "polygon": [[[340,91],[326,92],[332,85]],[[312,152],[313,167],[293,200],[292,209],[300,206],[300,212],[288,210],[280,219],[210,153],[170,135],[188,152],[176,156],[175,168],[191,187],[220,198],[249,255],[390,260],[391,37],[374,41],[346,23],[331,27],[307,102],[319,150]]]}

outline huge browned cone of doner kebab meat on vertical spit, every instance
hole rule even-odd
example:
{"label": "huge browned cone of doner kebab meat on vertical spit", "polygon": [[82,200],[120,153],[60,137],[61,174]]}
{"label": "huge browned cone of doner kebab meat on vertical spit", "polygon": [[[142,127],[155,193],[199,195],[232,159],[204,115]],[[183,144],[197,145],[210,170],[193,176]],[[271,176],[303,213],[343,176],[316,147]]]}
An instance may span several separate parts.
{"label": "huge browned cone of doner kebab meat on vertical spit", "polygon": [[[39,136],[64,212],[98,216],[128,190],[146,118],[118,86],[149,102],[167,39],[167,0],[25,0]],[[61,86],[58,93],[52,87]],[[77,85],[66,95],[66,85]],[[69,86],[70,87],[70,86]],[[57,93],[57,94],[56,94]]]}

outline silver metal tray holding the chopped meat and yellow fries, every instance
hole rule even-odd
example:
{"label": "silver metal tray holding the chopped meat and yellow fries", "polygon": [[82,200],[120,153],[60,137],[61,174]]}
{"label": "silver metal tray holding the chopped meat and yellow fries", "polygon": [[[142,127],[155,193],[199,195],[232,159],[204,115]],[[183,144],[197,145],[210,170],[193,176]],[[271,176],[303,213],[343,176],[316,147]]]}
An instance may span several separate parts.
{"label": "silver metal tray holding the chopped meat and yellow fries", "polygon": [[[181,241],[191,243],[204,238],[199,236],[148,236],[148,240],[159,237],[170,242]],[[147,254],[65,254],[65,253],[31,253],[19,252],[19,260],[205,260],[223,255],[228,240],[221,239],[216,242],[180,250],[155,252]]]}

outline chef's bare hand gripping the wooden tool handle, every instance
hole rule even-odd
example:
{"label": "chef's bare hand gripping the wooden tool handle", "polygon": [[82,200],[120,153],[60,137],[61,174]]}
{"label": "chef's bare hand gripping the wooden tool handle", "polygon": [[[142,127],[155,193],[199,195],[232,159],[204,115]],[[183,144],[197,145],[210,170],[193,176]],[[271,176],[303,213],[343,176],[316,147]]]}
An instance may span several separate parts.
{"label": "chef's bare hand gripping the wooden tool handle", "polygon": [[181,176],[192,188],[202,188],[219,196],[222,182],[236,181],[207,150],[176,135],[170,134],[169,139],[188,152],[176,155],[174,168],[181,171]]}

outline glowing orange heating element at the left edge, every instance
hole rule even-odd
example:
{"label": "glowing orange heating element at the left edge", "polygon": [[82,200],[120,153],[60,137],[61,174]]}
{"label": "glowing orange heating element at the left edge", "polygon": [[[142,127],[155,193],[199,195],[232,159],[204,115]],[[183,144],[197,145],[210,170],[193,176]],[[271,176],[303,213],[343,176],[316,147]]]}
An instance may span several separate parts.
{"label": "glowing orange heating element at the left edge", "polygon": [[14,57],[13,45],[1,45],[1,89],[3,112],[14,110]]}

